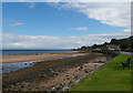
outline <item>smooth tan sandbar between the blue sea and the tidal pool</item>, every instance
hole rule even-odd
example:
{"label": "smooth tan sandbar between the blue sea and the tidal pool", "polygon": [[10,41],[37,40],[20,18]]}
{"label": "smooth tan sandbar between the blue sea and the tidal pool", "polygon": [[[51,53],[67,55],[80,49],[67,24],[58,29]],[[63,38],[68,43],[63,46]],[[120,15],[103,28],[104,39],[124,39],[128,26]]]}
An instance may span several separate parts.
{"label": "smooth tan sandbar between the blue sea and the tidal pool", "polygon": [[2,55],[2,62],[0,63],[17,63],[37,60],[49,60],[72,56],[73,54],[88,54],[80,52],[68,52],[68,53],[49,53],[49,54],[18,54],[18,55]]}

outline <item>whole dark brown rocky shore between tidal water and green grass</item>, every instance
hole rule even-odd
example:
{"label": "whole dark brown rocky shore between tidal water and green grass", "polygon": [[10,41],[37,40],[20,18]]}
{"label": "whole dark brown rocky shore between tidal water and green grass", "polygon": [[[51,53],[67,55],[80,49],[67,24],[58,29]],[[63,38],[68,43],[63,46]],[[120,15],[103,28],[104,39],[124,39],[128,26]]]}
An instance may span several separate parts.
{"label": "whole dark brown rocky shore between tidal water and green grass", "polygon": [[3,74],[3,91],[66,91],[74,83],[100,70],[112,59],[102,53],[91,53],[37,63],[35,66]]}

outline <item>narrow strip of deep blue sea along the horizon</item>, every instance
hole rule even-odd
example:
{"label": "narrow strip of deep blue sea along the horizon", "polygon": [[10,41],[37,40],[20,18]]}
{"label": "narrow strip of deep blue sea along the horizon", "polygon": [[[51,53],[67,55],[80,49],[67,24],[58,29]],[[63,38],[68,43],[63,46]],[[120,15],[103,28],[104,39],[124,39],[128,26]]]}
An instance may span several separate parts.
{"label": "narrow strip of deep blue sea along the horizon", "polygon": [[0,55],[75,52],[71,50],[1,50]]}

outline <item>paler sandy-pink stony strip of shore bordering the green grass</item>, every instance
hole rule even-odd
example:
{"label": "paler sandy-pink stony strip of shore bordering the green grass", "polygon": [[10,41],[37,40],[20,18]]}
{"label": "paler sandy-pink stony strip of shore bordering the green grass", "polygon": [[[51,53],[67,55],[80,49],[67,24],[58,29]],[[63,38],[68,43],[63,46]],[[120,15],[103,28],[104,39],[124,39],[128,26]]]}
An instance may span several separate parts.
{"label": "paler sandy-pink stony strip of shore bordering the green grass", "polygon": [[[76,66],[74,69],[68,70],[63,74],[65,74],[66,78],[71,75],[71,78],[69,78],[69,81],[66,82],[68,79],[63,79],[64,80],[63,84],[60,83],[60,84],[57,84],[57,85],[52,85],[47,91],[48,92],[55,91],[55,92],[59,92],[59,93],[68,91],[73,84],[79,83],[82,79],[84,79],[84,78],[91,75],[93,72],[102,69],[106,63],[109,63],[111,61],[111,58],[110,58],[110,60],[103,60],[105,58],[98,58],[98,59],[99,59],[98,62],[93,62],[93,61],[95,61],[95,60],[93,60],[90,63],[85,63],[81,66]],[[102,63],[100,62],[100,60],[102,60]],[[62,74],[60,74],[60,76]],[[89,80],[91,80],[91,78],[89,78]]]}

